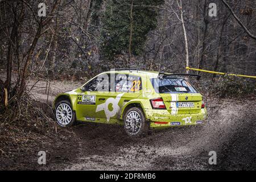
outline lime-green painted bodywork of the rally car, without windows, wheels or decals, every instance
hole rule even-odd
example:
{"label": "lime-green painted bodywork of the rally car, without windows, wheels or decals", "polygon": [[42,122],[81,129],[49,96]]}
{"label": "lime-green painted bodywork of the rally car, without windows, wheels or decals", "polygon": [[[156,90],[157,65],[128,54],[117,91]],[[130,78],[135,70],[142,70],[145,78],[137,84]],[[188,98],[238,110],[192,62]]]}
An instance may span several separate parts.
{"label": "lime-green painted bodywork of the rally car, without windows, wheels or decals", "polygon": [[[53,101],[53,109],[55,109],[55,104],[57,98],[60,96],[68,96],[71,101],[72,108],[76,113],[76,118],[78,121],[85,122],[98,122],[98,123],[113,123],[118,125],[123,125],[123,115],[125,114],[125,109],[130,104],[139,104],[146,117],[146,120],[150,122],[151,127],[170,127],[177,126],[177,123],[181,125],[196,125],[197,121],[204,121],[207,118],[207,109],[201,109],[202,96],[200,93],[180,93],[174,94],[177,101],[190,101],[194,102],[195,107],[180,107],[176,112],[172,110],[171,102],[173,101],[173,96],[170,93],[159,94],[156,93],[150,78],[157,78],[159,72],[149,72],[149,71],[115,71],[115,72],[104,72],[102,74],[126,74],[139,76],[142,79],[142,90],[133,93],[127,92],[84,92],[82,88],[88,84],[91,80],[86,82],[80,88],[72,90],[70,92],[61,93],[56,96]],[[96,76],[97,77],[97,76]],[[94,77],[94,78],[96,78]],[[113,105],[109,104],[106,108],[109,112],[113,112],[110,118],[107,118],[105,110],[96,111],[97,106],[105,105],[105,102],[110,98],[110,100],[116,100],[117,96],[122,94],[119,98],[118,106],[116,112],[113,112]],[[95,96],[95,105],[82,105],[77,104],[79,96]],[[150,100],[154,98],[163,98],[166,109],[152,109]],[[187,100],[185,97],[188,97]],[[99,100],[99,98],[105,98],[105,100]],[[176,102],[175,100],[173,102]],[[187,123],[185,123],[187,119]],[[159,124],[155,122],[168,122],[167,124]],[[174,123],[172,123],[174,122]],[[174,125],[171,125],[174,124]],[[176,125],[175,125],[176,124]]]}

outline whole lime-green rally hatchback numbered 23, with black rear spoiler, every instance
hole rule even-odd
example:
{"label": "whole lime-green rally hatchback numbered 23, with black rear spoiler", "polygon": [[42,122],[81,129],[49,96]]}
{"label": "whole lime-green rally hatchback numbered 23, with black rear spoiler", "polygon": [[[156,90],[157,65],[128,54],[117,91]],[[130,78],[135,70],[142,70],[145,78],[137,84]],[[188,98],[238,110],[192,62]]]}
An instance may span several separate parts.
{"label": "whole lime-green rally hatchback numbered 23, with black rear spoiler", "polygon": [[115,69],[53,101],[56,121],[124,125],[135,137],[150,128],[203,124],[207,109],[203,96],[188,81],[199,75]]}

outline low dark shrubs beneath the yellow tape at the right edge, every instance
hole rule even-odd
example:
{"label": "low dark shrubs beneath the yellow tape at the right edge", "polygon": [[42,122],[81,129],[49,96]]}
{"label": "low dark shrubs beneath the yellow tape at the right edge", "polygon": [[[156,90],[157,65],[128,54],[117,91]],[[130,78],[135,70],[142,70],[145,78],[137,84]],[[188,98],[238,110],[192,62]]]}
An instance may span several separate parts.
{"label": "low dark shrubs beneath the yellow tape at the right edge", "polygon": [[255,82],[236,76],[218,77],[210,89],[220,97],[241,97],[256,93]]}

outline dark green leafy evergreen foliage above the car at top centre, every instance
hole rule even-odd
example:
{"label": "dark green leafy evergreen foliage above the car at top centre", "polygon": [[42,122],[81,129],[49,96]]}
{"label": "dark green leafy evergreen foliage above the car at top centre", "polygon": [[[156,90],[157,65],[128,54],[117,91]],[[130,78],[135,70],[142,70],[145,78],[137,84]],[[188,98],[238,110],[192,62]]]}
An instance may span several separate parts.
{"label": "dark green leafy evergreen foliage above the car at top centre", "polygon": [[[101,30],[102,54],[112,59],[121,52],[128,52],[131,28],[131,2],[132,0],[108,1]],[[149,31],[157,26],[156,16],[163,0],[133,0],[133,20],[131,53],[139,55],[147,39]]]}

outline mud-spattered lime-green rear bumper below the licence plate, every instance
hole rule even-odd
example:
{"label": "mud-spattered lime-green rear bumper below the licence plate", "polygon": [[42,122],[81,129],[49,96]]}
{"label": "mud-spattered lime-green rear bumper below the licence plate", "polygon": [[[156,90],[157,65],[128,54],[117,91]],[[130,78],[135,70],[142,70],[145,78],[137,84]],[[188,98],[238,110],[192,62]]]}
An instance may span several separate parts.
{"label": "mud-spattered lime-green rear bumper below the licence plate", "polygon": [[197,114],[170,114],[167,110],[147,109],[145,117],[150,121],[150,127],[201,125],[207,119],[207,109],[201,109]]}

